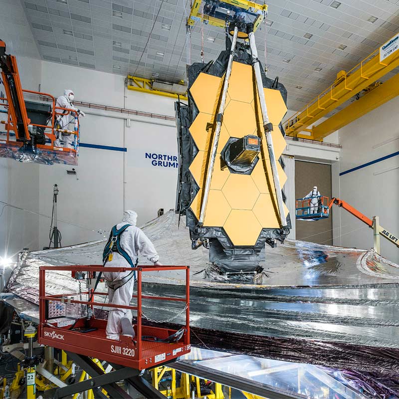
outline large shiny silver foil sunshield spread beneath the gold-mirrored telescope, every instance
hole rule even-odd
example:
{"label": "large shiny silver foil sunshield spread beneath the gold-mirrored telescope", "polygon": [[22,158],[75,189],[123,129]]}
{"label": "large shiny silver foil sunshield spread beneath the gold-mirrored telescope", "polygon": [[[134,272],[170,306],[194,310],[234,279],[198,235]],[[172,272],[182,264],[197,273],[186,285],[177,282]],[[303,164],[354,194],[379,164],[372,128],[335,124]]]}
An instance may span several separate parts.
{"label": "large shiny silver foil sunshield spread beneath the gold-mirrored telescope", "polygon": [[[193,343],[261,358],[399,374],[397,264],[373,250],[286,240],[266,248],[263,273],[229,279],[208,263],[205,248],[191,249],[185,224],[169,211],[143,230],[163,264],[190,265]],[[7,290],[37,305],[40,265],[98,265],[104,245],[100,240],[21,253]],[[153,295],[184,295],[180,271],[147,272],[143,282]],[[50,271],[46,292],[78,293],[79,285],[69,271]],[[104,296],[95,299],[101,302]],[[20,311],[29,308],[26,303]],[[177,316],[182,306],[144,300],[143,312],[153,320],[174,318],[172,323],[179,325],[184,322]]]}

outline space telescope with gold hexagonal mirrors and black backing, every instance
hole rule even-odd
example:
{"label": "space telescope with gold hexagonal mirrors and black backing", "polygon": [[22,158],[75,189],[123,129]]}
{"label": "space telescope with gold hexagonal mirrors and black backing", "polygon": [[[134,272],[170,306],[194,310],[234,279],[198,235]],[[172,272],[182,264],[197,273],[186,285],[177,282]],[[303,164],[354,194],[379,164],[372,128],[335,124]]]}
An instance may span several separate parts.
{"label": "space telescope with gold hexagonal mirrors and black backing", "polygon": [[[218,15],[218,3],[205,1],[203,12]],[[256,6],[264,8],[223,8],[226,50],[188,68],[189,103],[175,105],[177,211],[186,215],[193,249],[208,248],[222,273],[260,271],[265,243],[274,247],[291,227],[280,158],[287,92],[258,60],[254,29],[267,5]]]}

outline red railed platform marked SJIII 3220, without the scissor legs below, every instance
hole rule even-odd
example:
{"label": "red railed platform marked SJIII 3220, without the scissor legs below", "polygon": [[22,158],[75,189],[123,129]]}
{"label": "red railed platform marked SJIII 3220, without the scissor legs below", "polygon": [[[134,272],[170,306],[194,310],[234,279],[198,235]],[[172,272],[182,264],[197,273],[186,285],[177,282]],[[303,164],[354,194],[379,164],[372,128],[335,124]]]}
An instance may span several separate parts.
{"label": "red railed platform marked SJIII 3220, without the scissor legs below", "polygon": [[[68,294],[46,295],[45,273],[46,270],[70,271],[72,275],[83,279],[82,272],[87,273],[91,280],[96,281],[95,273],[135,271],[137,274],[137,306],[123,306],[103,302],[94,302],[94,289],[88,288],[86,292]],[[186,274],[186,294],[184,297],[156,297],[142,294],[142,273],[149,271],[182,270]],[[39,271],[39,327],[38,342],[64,351],[73,352],[83,356],[94,357],[109,363],[130,367],[132,369],[151,369],[164,363],[169,363],[179,356],[190,352],[190,269],[189,266],[138,266],[132,267],[103,267],[99,265],[80,266],[41,266]],[[89,285],[90,286],[90,285]],[[95,292],[95,295],[107,294]],[[88,300],[84,300],[87,296]],[[76,298],[76,299],[75,299]],[[165,342],[168,337],[177,333],[176,330],[151,327],[142,324],[142,299],[151,301],[182,302],[186,322],[183,326],[184,333],[178,342]],[[77,315],[75,320],[65,317],[68,306],[82,308],[85,305],[87,315]],[[135,337],[120,335],[119,341],[106,338],[105,329],[107,320],[95,317],[99,308],[124,308],[137,312],[136,324],[133,325]],[[79,312],[78,312],[79,313]],[[82,317],[83,316],[83,317]],[[145,317],[145,316],[144,316]],[[180,330],[179,330],[180,331]],[[144,340],[143,337],[155,337],[155,340]],[[163,341],[163,342],[162,342]]]}

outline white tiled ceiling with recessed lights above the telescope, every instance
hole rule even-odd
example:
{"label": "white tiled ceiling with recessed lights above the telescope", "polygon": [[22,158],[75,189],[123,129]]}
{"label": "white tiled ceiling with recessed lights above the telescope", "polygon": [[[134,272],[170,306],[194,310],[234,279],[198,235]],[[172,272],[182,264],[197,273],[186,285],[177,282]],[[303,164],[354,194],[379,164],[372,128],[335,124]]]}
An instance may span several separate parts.
{"label": "white tiled ceiling with recessed lights above the telescope", "polygon": [[[190,11],[190,0],[67,0],[66,4],[26,0],[22,4],[44,59],[122,75],[159,74],[160,79],[174,82],[186,78],[185,13]],[[399,0],[270,0],[268,4],[271,26],[266,42],[265,25],[256,33],[259,56],[264,64],[266,44],[268,76],[278,75],[285,84],[288,107],[293,110],[330,85],[338,71],[351,69],[399,31]],[[215,40],[207,40],[209,36]],[[202,46],[204,61],[214,59],[224,48],[223,31],[196,24],[192,62],[200,62]]]}

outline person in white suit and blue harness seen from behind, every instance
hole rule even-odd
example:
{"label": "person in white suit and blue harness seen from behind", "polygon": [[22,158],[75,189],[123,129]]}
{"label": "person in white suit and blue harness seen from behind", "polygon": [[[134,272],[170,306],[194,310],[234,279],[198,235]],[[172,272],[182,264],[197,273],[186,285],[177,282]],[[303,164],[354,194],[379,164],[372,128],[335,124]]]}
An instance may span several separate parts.
{"label": "person in white suit and blue harness seen from behind", "polygon": [[[111,234],[103,252],[105,267],[135,267],[138,255],[147,257],[156,266],[158,253],[144,232],[136,227],[137,213],[125,210],[122,222],[112,227]],[[104,272],[108,283],[109,303],[129,305],[133,295],[135,273]],[[108,339],[119,340],[119,334],[132,335],[132,312],[130,309],[109,308],[106,334]]]}

